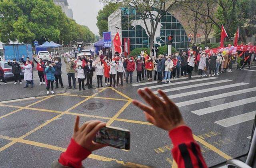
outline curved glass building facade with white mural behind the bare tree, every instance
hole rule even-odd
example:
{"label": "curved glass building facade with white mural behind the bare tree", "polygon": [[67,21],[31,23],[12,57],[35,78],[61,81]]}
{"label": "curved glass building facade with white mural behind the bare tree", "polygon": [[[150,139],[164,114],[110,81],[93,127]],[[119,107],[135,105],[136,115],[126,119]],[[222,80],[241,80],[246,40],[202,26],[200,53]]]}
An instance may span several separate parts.
{"label": "curved glass building facade with white mural behind the bare tree", "polygon": [[[152,8],[151,13],[153,17],[158,14],[154,8]],[[124,47],[124,38],[130,39],[130,51],[135,48],[150,47],[150,38],[146,32],[146,26],[150,28],[150,19],[146,20],[145,25],[144,21],[136,14],[136,10],[132,7],[122,7],[108,17],[108,30],[112,34],[112,40],[118,31],[122,39],[122,47]],[[173,47],[178,51],[188,47],[188,36],[183,26],[169,12],[164,15],[158,24],[154,45],[167,45],[168,36],[173,36]]]}

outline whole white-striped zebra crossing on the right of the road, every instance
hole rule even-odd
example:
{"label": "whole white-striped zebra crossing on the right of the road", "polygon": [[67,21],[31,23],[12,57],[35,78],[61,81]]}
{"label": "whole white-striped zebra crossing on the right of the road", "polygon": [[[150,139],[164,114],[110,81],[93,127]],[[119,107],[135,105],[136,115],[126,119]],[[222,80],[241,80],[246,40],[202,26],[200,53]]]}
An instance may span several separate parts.
{"label": "whole white-striped zebra crossing on the right of the road", "polygon": [[[219,115],[220,112],[226,109],[238,108],[242,105],[255,103],[256,87],[250,87],[249,84],[250,83],[246,83],[246,82],[236,83],[233,80],[219,79],[218,77],[206,77],[206,78],[194,77],[192,80],[188,80],[186,78],[180,78],[178,80],[172,80],[172,83],[166,83],[161,85],[157,84],[156,81],[153,81],[153,82],[137,83],[132,86],[142,90],[145,89],[147,86],[147,88],[151,89],[155,94],[158,94],[157,90],[161,89],[163,92],[165,92],[168,95],[170,99],[182,98],[182,101],[176,103],[178,107],[196,105],[196,107],[195,106],[193,107],[196,109],[190,110],[190,113],[198,115],[199,117],[207,117],[207,115],[214,115],[217,112]],[[204,88],[200,89],[200,87],[202,86]],[[225,89],[227,88],[229,89],[229,92],[225,91]],[[181,92],[181,93],[177,93],[177,92]],[[240,95],[247,94],[247,93],[248,95],[252,95],[252,96],[240,98]],[[193,97],[194,95],[196,95],[196,97]],[[225,103],[224,101],[216,101],[218,102],[217,105],[214,104],[214,105],[211,105],[211,107],[209,107],[209,101],[218,100],[218,99],[226,100],[226,98],[227,100],[229,100],[229,98],[232,98],[232,96],[236,96],[236,99],[239,98],[239,100],[231,101],[228,103]],[[206,104],[206,106],[208,105],[208,107],[205,107],[204,103]],[[253,110],[246,111],[242,114],[240,112],[239,115],[234,114],[234,116],[232,116],[232,113],[231,113],[226,118],[225,118],[225,115],[223,115],[223,117],[218,116],[217,117],[218,119],[219,118],[222,118],[222,119],[218,121],[212,121],[212,123],[226,128],[234,125],[239,125],[241,123],[245,123],[248,121],[252,121],[255,115],[256,115],[256,111],[253,111]]]}

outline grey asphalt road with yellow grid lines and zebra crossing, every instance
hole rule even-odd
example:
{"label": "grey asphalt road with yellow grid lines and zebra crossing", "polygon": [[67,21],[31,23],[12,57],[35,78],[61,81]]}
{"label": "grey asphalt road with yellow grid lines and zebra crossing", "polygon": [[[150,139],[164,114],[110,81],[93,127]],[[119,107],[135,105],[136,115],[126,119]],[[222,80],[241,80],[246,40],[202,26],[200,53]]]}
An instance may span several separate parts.
{"label": "grey asphalt road with yellow grid lines and zebra crossing", "polygon": [[[106,147],[93,152],[84,166],[171,167],[173,146],[168,132],[149,125],[142,111],[130,103],[130,99],[142,101],[136,90],[145,86],[166,91],[178,103],[208,166],[246,154],[256,111],[256,67],[252,70],[234,69],[232,73],[191,80],[180,78],[168,85],[125,84],[83,92],[63,89],[56,91],[59,95],[0,102],[0,167],[49,167],[68,146],[76,115],[81,116],[81,123],[99,119],[131,132],[130,151]],[[62,76],[65,80],[66,75]],[[1,85],[0,92],[2,101],[46,96],[44,86],[39,85],[28,90],[20,85]]]}

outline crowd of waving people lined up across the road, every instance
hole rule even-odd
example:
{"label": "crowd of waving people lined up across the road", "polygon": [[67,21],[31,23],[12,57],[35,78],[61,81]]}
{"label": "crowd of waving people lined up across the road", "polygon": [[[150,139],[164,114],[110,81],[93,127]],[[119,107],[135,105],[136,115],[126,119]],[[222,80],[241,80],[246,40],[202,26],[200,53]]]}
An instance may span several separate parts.
{"label": "crowd of waving people lined up across the road", "polygon": [[[158,49],[153,48],[154,55],[157,55]],[[200,46],[193,45],[185,51],[179,51],[172,55],[158,55],[150,57],[146,51],[141,51],[138,56],[124,56],[115,53],[114,57],[105,56],[100,53],[99,59],[95,60],[86,55],[79,55],[77,57],[64,57],[66,63],[66,73],[68,75],[68,89],[76,89],[76,82],[79,85],[79,91],[92,88],[92,79],[96,73],[97,87],[103,87],[103,76],[105,85],[108,87],[117,87],[119,84],[124,85],[133,83],[133,73],[136,70],[136,82],[140,83],[142,80],[154,80],[158,84],[171,83],[172,79],[180,77],[192,78],[192,72],[198,74],[198,77],[220,75],[220,73],[232,72],[233,64],[237,63],[236,69],[241,70],[245,65],[249,65],[252,59],[252,51],[224,53],[218,51],[216,53],[208,53]],[[255,58],[255,57],[254,57]],[[255,59],[254,59],[255,60]],[[22,84],[21,69],[24,69],[24,80],[26,87],[34,87],[33,67],[36,63],[36,70],[40,79],[39,85],[46,85],[47,94],[51,88],[51,93],[54,94],[55,88],[59,84],[64,88],[62,81],[62,63],[60,57],[55,57],[53,61],[42,61],[42,59],[30,60],[29,57],[24,60],[21,58],[20,63],[13,59],[13,62],[8,61],[8,65],[12,67],[14,74],[14,84]],[[80,61],[80,64],[78,64]],[[97,62],[96,62],[97,61]],[[154,73],[153,73],[154,71]],[[0,67],[0,78],[5,84],[4,71]],[[129,78],[130,76],[130,78]],[[72,79],[72,83],[71,83]],[[78,79],[78,80],[76,80]],[[86,82],[85,82],[86,80]]]}

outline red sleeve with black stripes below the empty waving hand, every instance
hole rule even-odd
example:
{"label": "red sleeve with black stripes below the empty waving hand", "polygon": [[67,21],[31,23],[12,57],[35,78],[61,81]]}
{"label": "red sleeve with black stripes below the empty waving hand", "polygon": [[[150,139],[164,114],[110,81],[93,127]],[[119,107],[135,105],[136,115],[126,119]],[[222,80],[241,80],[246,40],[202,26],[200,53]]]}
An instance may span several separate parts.
{"label": "red sleeve with black stripes below the empty waving hand", "polygon": [[172,156],[178,168],[207,168],[199,145],[188,126],[179,126],[169,132],[174,148]]}

